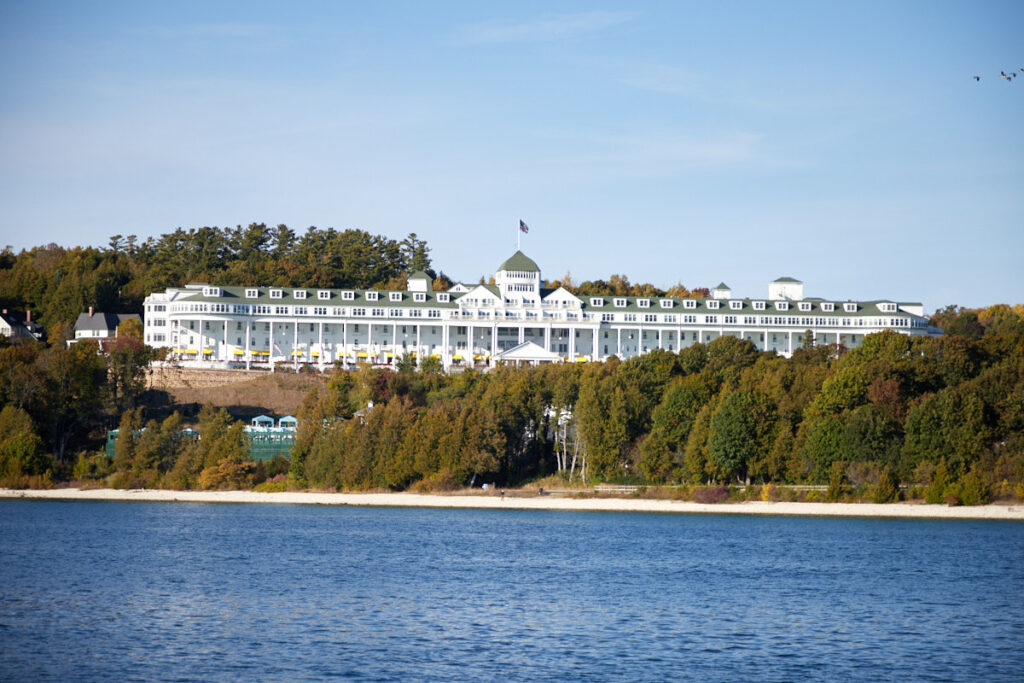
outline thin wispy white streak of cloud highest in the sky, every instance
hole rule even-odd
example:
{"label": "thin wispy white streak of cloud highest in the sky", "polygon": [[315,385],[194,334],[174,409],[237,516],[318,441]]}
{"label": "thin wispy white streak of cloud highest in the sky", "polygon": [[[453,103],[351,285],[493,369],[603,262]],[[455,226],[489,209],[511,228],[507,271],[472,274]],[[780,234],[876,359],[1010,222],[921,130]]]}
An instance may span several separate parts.
{"label": "thin wispy white streak of cloud highest in the sky", "polygon": [[528,22],[484,22],[463,27],[458,39],[470,45],[546,43],[604,31],[634,16],[631,12],[596,11],[551,14]]}

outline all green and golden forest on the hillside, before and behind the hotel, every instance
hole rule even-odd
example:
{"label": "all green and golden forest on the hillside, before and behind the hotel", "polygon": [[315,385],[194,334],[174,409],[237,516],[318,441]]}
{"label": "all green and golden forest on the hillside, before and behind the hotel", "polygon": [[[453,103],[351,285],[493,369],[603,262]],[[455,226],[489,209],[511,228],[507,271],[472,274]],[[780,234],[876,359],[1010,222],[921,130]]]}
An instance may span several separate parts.
{"label": "all green and golden forest on the hillside, before and behind the hotel", "polygon": [[[877,500],[901,484],[901,495],[931,502],[1024,497],[1022,305],[950,306],[933,318],[951,333],[941,338],[889,332],[792,358],[725,337],[603,364],[447,376],[406,358],[398,373],[333,371],[304,401],[291,462],[257,464],[223,411],[204,410],[194,440],[181,437],[180,416],[158,422],[139,407],[155,356],[137,323],[102,352],[91,342],[68,348],[61,326],[88,305],[137,310],[150,291],[197,280],[402,287],[410,270],[431,266],[415,234],[202,228],[142,244],[115,238],[108,249],[6,251],[0,261],[5,305],[31,307],[50,326],[47,344],[0,340],[7,485],[443,489],[553,476],[815,483],[831,497]],[[562,284],[654,289],[620,275]],[[101,446],[114,425],[121,438],[110,461]]]}

